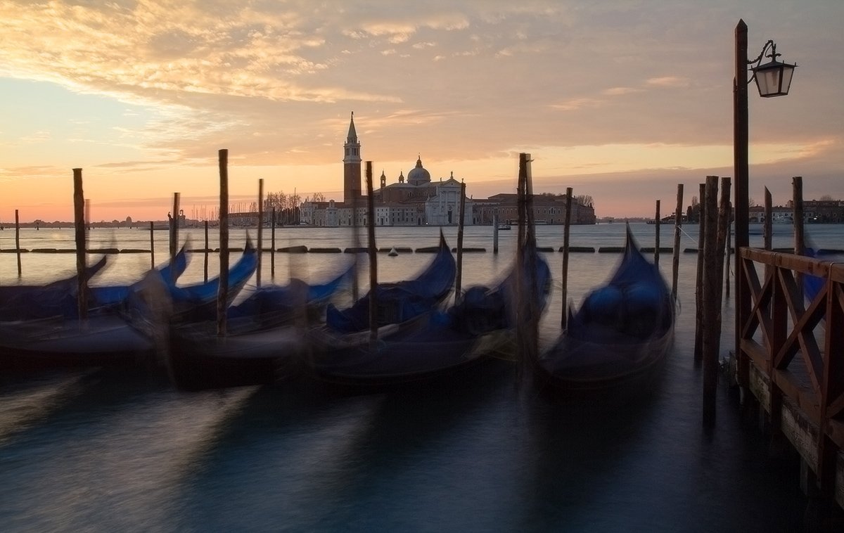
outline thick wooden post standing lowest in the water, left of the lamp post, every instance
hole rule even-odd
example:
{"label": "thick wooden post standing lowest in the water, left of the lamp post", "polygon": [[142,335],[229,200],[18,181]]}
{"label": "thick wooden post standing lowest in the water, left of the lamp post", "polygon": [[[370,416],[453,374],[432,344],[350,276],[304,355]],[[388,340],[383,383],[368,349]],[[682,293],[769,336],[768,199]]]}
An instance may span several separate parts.
{"label": "thick wooden post standing lowest in the water, left of the lamp post", "polygon": [[[718,178],[706,176],[706,225],[703,244],[703,291],[705,294],[721,294],[718,278],[721,267],[717,264],[718,230]],[[714,291],[714,292],[713,292]],[[703,299],[703,424],[711,428],[715,423],[716,390],[718,380],[718,346],[716,320],[719,298]]]}

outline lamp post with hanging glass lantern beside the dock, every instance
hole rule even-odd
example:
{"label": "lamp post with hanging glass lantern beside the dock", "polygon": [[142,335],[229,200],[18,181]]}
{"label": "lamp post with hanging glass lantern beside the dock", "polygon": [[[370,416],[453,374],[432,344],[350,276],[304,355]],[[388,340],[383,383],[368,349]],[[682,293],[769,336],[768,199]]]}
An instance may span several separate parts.
{"label": "lamp post with hanging glass lantern beside the dock", "polygon": [[[766,51],[771,51],[766,56]],[[742,247],[749,245],[748,218],[748,66],[756,80],[759,95],[763,98],[783,96],[788,94],[794,68],[776,60],[780,54],[776,53],[776,44],[769,40],[759,57],[749,61],[747,58],[747,24],[738,20],[735,30],[735,78],[733,78],[733,175],[735,177],[735,347],[738,357],[738,383],[743,387],[748,384],[749,362],[741,349],[741,329],[747,323],[750,314],[750,288],[747,279],[742,274],[742,258],[738,253]],[[771,62],[760,64],[765,57],[771,57]]]}

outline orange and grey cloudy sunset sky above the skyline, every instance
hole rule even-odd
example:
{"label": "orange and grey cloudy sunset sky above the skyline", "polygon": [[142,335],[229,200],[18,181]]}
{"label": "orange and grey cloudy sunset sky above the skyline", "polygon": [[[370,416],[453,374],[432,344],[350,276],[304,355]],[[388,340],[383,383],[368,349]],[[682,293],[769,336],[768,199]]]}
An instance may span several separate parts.
{"label": "orange and grey cloudy sunset sky above the skyline", "polygon": [[[796,62],[749,87],[749,196],[844,199],[844,2],[0,0],[0,223],[190,217],[265,192],[343,197],[354,111],[387,183],[421,157],[467,194],[591,196],[598,217],[684,205],[733,175],[734,30]],[[767,61],[767,60],[766,60]],[[376,183],[377,186],[377,183]],[[365,189],[365,186],[364,186]]]}

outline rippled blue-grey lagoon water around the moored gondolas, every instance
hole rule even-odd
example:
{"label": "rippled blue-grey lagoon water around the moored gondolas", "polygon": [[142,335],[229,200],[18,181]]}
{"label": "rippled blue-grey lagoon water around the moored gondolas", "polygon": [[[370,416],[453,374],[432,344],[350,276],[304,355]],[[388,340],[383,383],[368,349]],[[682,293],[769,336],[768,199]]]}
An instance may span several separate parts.
{"label": "rippled blue-grey lagoon water around the moored gondolas", "polygon": [[[684,229],[681,248],[696,248],[696,229]],[[841,248],[841,229],[811,231],[818,245]],[[634,231],[641,245],[653,244],[652,226]],[[378,246],[432,246],[437,232],[378,229]],[[622,245],[623,232],[623,224],[575,227],[571,245]],[[510,266],[517,232],[500,233],[498,256],[490,253],[491,233],[467,229],[464,245],[488,252],[464,255],[464,286],[489,283]],[[561,233],[539,228],[539,245],[558,247]],[[203,247],[202,230],[186,234]],[[791,244],[788,234],[774,237],[775,247]],[[166,235],[155,238],[156,258],[164,260]],[[280,229],[276,245],[345,247],[348,238],[343,229]],[[456,245],[456,229],[446,229],[446,238]],[[760,245],[755,239],[751,245]],[[21,245],[66,248],[72,240],[69,230],[26,229]],[[143,248],[149,231],[96,229],[91,240]],[[232,234],[232,245],[242,240],[242,232]],[[663,227],[661,245],[672,243],[673,228]],[[0,233],[0,248],[13,247],[14,232]],[[543,344],[553,342],[562,310],[561,254],[546,257],[557,279]],[[111,258],[96,283],[131,280],[149,267],[149,255]],[[572,254],[571,299],[603,282],[618,259]],[[277,254],[275,278],[284,283],[293,272],[317,281],[348,260]],[[24,283],[74,268],[73,255],[23,261]],[[427,261],[429,254],[381,254],[379,277],[409,277]],[[663,254],[660,265],[670,280],[671,257]],[[695,266],[695,254],[680,256],[681,310],[664,379],[632,405],[550,401],[505,365],[433,390],[363,396],[312,384],[189,394],[162,376],[99,371],[0,380],[0,524],[15,531],[800,530],[807,501],[797,461],[769,454],[768,439],[726,383],[719,384],[717,428],[701,427]],[[265,255],[265,283],[269,268]],[[202,277],[203,254],[194,254],[185,280]],[[17,282],[16,261],[3,253],[0,283],[10,282]],[[732,304],[726,300],[723,310],[724,354]]]}

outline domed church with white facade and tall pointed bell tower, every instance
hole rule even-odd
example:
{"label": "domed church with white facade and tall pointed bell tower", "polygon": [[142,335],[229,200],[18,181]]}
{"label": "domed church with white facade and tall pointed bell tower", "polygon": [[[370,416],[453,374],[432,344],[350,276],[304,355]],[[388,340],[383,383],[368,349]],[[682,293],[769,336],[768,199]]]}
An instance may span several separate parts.
{"label": "domed church with white facade and tall pointed bell tower", "polygon": [[[302,223],[314,226],[365,226],[366,197],[361,193],[360,140],[354,130],[354,113],[343,145],[343,202],[304,202]],[[375,184],[373,184],[374,186]],[[431,181],[430,172],[422,166],[421,155],[407,178],[400,171],[398,180],[387,185],[381,170],[381,186],[372,193],[376,226],[448,226],[460,218],[462,183],[452,172],[448,178]],[[466,198],[464,225],[473,224],[473,202]]]}

